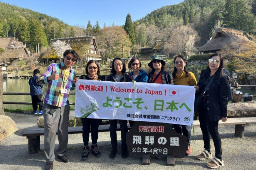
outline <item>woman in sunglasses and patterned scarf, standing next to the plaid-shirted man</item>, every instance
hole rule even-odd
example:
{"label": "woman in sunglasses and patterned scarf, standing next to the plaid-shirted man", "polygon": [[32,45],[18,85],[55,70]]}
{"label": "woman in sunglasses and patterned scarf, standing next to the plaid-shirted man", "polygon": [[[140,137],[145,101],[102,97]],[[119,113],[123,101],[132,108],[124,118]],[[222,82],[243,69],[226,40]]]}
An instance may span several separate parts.
{"label": "woman in sunglasses and patterned scarf, standing next to the plaid-shirted man", "polygon": [[[105,77],[99,75],[100,68],[96,60],[90,60],[85,68],[86,75],[81,75],[80,79],[84,80],[98,80],[105,81]],[[99,128],[99,119],[90,119],[90,118],[81,118],[83,124],[83,142],[84,149],[82,154],[82,160],[88,159],[89,155],[89,133],[91,129],[92,137],[92,153],[96,157],[100,157],[100,151],[98,150],[97,140],[98,140],[98,128]]]}

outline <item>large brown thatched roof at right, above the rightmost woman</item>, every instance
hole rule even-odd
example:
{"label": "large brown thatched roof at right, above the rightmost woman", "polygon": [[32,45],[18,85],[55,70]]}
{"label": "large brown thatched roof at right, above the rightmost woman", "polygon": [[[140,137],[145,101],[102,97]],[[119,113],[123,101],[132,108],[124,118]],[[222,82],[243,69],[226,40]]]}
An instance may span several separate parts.
{"label": "large brown thatched roof at right, above the rightmost woman", "polygon": [[204,53],[214,53],[225,47],[236,48],[237,43],[247,44],[254,43],[250,41],[242,31],[230,28],[218,28],[209,42],[201,46],[198,51]]}

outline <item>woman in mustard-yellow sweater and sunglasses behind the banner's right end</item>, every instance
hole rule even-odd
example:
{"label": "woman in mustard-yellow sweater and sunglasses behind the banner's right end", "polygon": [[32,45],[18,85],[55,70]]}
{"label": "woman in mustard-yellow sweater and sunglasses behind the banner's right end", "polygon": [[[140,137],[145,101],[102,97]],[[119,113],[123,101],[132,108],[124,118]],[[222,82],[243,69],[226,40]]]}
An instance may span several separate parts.
{"label": "woman in mustard-yellow sweater and sunglasses behind the banner's right end", "polygon": [[[174,58],[174,71],[172,72],[174,85],[186,85],[195,86],[197,84],[196,77],[192,72],[189,72],[186,68],[186,58],[183,55],[177,55]],[[188,150],[186,155],[191,154],[190,148],[190,137],[191,137],[191,126],[186,125],[174,125],[176,132],[182,134],[188,139]]]}

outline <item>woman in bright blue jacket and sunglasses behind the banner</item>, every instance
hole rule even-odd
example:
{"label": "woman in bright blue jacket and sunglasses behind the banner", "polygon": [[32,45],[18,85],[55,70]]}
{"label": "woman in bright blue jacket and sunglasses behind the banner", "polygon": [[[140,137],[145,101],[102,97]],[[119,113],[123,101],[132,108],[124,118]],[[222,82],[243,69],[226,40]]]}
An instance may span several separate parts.
{"label": "woman in bright blue jacket and sunglasses behind the banner", "polygon": [[[132,80],[136,82],[148,82],[148,76],[145,70],[140,69],[141,61],[138,57],[132,58],[128,63],[128,67],[132,69],[132,72],[129,73],[129,76]],[[132,127],[134,121],[129,121],[130,126]]]}

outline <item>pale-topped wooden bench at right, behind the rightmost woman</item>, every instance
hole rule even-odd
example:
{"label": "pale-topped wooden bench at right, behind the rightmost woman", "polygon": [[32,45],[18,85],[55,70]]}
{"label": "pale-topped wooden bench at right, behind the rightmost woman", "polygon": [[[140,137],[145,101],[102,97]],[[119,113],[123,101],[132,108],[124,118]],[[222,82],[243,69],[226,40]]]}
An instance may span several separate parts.
{"label": "pale-topped wooden bench at right, behind the rightmost woman", "polygon": [[[228,118],[228,121],[219,121],[219,125],[235,125],[235,136],[244,137],[244,126],[255,124],[256,117],[250,118]],[[199,121],[194,121],[194,126],[200,126]]]}

